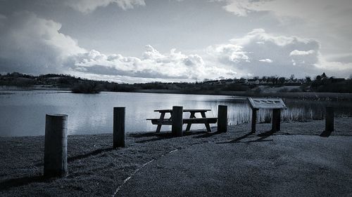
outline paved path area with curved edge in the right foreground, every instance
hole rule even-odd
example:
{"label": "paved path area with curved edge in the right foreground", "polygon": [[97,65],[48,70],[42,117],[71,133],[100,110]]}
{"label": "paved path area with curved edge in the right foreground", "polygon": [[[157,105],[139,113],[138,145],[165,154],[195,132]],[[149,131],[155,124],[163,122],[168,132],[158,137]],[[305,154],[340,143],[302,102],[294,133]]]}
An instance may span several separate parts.
{"label": "paved path area with curved edge in the right foreground", "polygon": [[116,196],[352,196],[352,137],[245,136],[149,163]]}

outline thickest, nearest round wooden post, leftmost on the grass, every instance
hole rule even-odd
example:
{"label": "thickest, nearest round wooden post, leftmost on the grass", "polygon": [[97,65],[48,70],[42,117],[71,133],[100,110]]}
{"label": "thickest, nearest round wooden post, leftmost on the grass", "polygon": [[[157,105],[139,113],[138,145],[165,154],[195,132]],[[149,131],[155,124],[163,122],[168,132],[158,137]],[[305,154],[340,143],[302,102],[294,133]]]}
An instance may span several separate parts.
{"label": "thickest, nearest round wooden post, leftmost on the grass", "polygon": [[65,177],[67,167],[67,119],[65,114],[46,114],[44,177]]}

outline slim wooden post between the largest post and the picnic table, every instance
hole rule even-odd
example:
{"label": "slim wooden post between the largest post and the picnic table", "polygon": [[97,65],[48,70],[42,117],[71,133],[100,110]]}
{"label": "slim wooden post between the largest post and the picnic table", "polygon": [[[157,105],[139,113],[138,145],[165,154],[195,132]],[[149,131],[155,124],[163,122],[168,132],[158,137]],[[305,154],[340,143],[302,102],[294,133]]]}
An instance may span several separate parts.
{"label": "slim wooden post between the largest post and the picnic table", "polygon": [[113,108],[113,148],[125,147],[125,107]]}

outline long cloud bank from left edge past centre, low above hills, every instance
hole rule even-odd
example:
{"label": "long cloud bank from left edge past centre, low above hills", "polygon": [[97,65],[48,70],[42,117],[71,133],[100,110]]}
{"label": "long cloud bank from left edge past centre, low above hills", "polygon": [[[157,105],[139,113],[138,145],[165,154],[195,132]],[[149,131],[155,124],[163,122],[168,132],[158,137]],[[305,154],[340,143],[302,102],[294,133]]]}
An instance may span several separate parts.
{"label": "long cloud bank from left edge past centre, low above hills", "polygon": [[197,54],[185,55],[175,49],[160,53],[148,45],[142,57],[86,50],[60,32],[60,23],[39,18],[34,13],[20,12],[2,17],[0,26],[5,27],[0,29],[0,72],[80,73],[111,76],[113,79],[130,77],[169,81],[214,79],[234,74],[229,69],[206,66]]}

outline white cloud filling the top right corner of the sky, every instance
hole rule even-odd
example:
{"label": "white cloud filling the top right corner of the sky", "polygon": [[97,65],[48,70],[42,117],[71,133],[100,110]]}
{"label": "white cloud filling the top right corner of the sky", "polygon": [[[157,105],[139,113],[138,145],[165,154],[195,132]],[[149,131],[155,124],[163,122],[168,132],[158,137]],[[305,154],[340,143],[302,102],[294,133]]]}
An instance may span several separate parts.
{"label": "white cloud filling the top right corner of the sky", "polygon": [[[280,34],[295,34],[322,43],[324,55],[351,53],[351,0],[218,0],[224,9],[240,17],[265,15],[279,22]],[[263,24],[268,29],[272,25]],[[345,61],[341,59],[341,61]]]}

